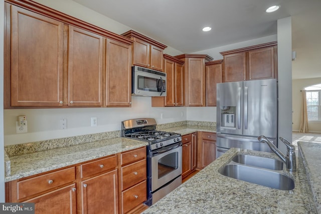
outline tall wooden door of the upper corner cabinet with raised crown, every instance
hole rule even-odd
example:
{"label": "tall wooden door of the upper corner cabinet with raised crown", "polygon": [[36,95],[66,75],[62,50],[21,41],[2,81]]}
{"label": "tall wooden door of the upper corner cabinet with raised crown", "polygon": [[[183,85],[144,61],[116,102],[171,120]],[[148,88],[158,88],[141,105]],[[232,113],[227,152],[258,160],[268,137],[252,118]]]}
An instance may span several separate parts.
{"label": "tall wooden door of the upper corner cabinet with raised crown", "polygon": [[203,106],[205,95],[204,59],[188,58],[188,106]]}

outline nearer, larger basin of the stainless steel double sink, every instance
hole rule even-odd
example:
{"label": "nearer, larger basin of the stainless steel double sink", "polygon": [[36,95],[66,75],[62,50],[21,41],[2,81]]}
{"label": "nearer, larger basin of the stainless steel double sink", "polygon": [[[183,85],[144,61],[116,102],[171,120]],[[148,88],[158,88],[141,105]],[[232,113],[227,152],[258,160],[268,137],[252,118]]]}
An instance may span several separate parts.
{"label": "nearer, larger basin of the stainless steel double sink", "polygon": [[294,180],[284,174],[239,164],[227,164],[220,173],[239,180],[280,190],[294,189]]}

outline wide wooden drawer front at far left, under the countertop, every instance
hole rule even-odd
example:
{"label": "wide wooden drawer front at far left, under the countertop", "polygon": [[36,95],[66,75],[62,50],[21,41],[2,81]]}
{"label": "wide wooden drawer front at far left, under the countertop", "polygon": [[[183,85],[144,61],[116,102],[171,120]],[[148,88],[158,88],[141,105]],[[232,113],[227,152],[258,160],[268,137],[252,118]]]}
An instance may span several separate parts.
{"label": "wide wooden drawer front at far left, under the countertop", "polygon": [[74,181],[75,167],[62,169],[26,180],[18,181],[18,199],[43,192]]}

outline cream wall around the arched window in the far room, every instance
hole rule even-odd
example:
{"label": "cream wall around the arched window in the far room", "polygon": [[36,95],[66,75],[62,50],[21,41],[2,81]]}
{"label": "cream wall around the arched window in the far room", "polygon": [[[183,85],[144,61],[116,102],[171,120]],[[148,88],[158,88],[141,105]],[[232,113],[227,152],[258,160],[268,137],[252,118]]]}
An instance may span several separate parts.
{"label": "cream wall around the arched window in the far room", "polygon": [[[307,86],[320,84],[321,78],[292,80],[292,130],[299,131],[300,112],[302,109],[302,92]],[[309,122],[309,132],[321,133],[321,122]]]}

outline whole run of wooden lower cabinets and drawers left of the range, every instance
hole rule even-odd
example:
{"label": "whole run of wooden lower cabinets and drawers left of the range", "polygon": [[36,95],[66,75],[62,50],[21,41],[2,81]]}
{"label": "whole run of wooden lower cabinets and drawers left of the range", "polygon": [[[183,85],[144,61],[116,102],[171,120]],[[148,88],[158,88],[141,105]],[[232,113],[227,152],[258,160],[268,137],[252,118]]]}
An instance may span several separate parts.
{"label": "whole run of wooden lower cabinets and drawers left of the range", "polygon": [[134,213],[147,199],[146,147],[6,182],[6,202],[38,213]]}

